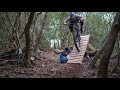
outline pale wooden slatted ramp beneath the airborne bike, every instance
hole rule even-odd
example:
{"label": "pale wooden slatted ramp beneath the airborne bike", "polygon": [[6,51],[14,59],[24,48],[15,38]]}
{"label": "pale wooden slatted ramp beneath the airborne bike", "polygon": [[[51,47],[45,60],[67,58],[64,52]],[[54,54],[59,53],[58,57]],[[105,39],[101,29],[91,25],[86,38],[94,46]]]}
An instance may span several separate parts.
{"label": "pale wooden slatted ramp beneath the airborne bike", "polygon": [[84,54],[85,54],[85,51],[87,49],[87,45],[88,45],[88,42],[89,42],[89,37],[90,37],[90,35],[81,36],[80,52],[78,52],[77,49],[74,46],[74,48],[70,52],[70,54],[67,55],[67,58],[68,58],[67,63],[82,63],[83,57],[84,57]]}

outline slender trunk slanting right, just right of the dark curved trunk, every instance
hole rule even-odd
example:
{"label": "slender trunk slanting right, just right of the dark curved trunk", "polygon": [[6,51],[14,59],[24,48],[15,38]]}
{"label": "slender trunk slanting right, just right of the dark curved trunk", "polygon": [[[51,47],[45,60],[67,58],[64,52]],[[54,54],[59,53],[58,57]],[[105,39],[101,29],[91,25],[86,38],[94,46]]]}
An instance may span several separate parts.
{"label": "slender trunk slanting right, just right of the dark curved trunk", "polygon": [[38,46],[39,46],[39,44],[40,44],[40,42],[41,42],[41,39],[42,39],[42,32],[43,32],[43,29],[44,29],[44,26],[45,26],[45,23],[46,23],[46,19],[47,19],[47,12],[45,13],[45,16],[44,16],[44,19],[43,19],[43,22],[42,22],[42,27],[41,27],[41,30],[40,30],[40,32],[39,32],[39,34],[38,34],[38,37],[36,38],[36,44],[35,44],[35,46],[34,46],[34,53],[36,53],[36,51],[37,51],[37,48],[38,48]]}

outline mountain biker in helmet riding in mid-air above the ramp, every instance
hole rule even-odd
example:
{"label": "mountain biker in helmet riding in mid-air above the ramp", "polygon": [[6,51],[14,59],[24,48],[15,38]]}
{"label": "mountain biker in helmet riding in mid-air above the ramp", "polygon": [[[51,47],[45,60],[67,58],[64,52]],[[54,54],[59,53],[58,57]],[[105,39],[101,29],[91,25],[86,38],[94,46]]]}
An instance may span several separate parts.
{"label": "mountain biker in helmet riding in mid-air above the ramp", "polygon": [[[83,34],[83,24],[84,24],[84,20],[80,15],[75,14],[74,12],[70,12],[69,16],[64,20],[64,24],[69,24],[69,29],[72,32],[73,31],[73,23],[77,23],[77,26],[80,28],[81,30],[81,34]],[[72,23],[72,24],[70,24]]]}

